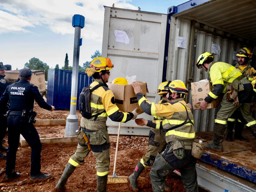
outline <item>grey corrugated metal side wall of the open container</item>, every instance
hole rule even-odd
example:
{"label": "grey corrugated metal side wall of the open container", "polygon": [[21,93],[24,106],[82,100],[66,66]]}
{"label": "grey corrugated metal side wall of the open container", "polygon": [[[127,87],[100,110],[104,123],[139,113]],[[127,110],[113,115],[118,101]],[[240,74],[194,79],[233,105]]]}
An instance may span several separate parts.
{"label": "grey corrugated metal side wall of the open container", "polygon": [[[187,38],[186,48],[177,47],[178,36]],[[195,40],[196,47],[194,52]],[[218,44],[221,49],[220,55],[214,54],[214,61],[229,64],[236,63],[236,61],[233,60],[234,51],[242,47],[248,47],[252,50],[250,42],[244,41],[242,38],[231,38],[231,34],[217,30],[216,28],[210,28],[195,20],[182,18],[181,16],[172,17],[167,80],[180,79],[184,83],[187,83],[187,87],[190,88],[191,82],[210,79],[203,69],[196,68],[195,63],[202,52],[211,52],[212,44]],[[192,104],[191,94],[188,95],[186,101]],[[196,132],[213,131],[214,111],[215,109],[193,111]]]}

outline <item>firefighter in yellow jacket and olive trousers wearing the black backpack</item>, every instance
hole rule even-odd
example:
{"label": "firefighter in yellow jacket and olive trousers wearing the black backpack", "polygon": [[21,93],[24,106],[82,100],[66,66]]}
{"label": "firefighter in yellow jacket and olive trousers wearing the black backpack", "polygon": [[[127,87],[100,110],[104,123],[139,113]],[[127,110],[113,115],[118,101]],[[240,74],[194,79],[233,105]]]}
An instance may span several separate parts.
{"label": "firefighter in yellow jacket and olive trousers wearing the black backpack", "polygon": [[[116,106],[114,94],[106,84],[110,76],[109,70],[112,68],[113,65],[109,58],[97,57],[92,60],[90,68],[86,69],[88,76],[93,76],[94,79],[90,85],[91,87],[103,84],[103,86],[92,91],[90,95],[91,112],[92,115],[98,114],[97,118],[86,119],[82,117],[81,119],[81,129],[89,137],[92,154],[96,157],[95,169],[97,171],[98,192],[106,192],[108,180],[110,142],[106,126],[107,117],[112,121],[125,123],[138,115],[136,110],[124,113]],[[55,188],[59,190],[65,188],[68,178],[76,167],[84,162],[84,158],[89,152],[87,144],[79,141],[75,154],[68,160],[68,164]]]}

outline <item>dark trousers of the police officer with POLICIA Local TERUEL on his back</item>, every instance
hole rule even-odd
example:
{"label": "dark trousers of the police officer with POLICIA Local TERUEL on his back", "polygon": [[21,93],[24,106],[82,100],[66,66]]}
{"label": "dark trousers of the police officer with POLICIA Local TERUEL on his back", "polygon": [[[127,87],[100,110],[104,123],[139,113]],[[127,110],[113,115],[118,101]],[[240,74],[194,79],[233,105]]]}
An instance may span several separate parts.
{"label": "dark trousers of the police officer with POLICIA Local TERUEL on his back", "polygon": [[28,123],[28,117],[21,115],[9,115],[8,125],[8,151],[6,153],[6,173],[10,174],[15,170],[16,153],[19,147],[20,134],[31,147],[31,169],[30,175],[35,176],[41,169],[42,144],[33,123]]}

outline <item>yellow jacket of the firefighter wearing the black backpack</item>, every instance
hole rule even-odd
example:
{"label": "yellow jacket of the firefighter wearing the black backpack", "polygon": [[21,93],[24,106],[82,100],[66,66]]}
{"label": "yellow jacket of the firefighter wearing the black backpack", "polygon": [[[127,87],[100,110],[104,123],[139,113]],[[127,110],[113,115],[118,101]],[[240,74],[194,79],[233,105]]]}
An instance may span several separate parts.
{"label": "yellow jacket of the firefighter wearing the black backpack", "polygon": [[[99,83],[103,84],[100,79],[94,79],[90,86],[94,87]],[[122,123],[125,123],[133,118],[132,113],[125,113],[119,110],[115,104],[115,97],[113,92],[105,85],[99,87],[91,93],[90,106],[92,115],[103,112],[97,117],[96,121],[93,120],[94,117],[91,119],[82,117],[81,126],[93,131],[105,129],[108,117],[112,121]]]}

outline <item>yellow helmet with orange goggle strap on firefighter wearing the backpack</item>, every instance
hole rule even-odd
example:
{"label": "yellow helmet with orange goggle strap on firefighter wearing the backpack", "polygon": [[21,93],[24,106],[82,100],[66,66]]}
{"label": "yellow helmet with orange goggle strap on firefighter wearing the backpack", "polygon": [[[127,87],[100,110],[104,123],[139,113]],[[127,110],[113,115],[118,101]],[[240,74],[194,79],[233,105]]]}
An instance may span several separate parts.
{"label": "yellow helmet with orange goggle strap on firefighter wearing the backpack", "polygon": [[102,70],[110,70],[114,66],[109,58],[96,57],[92,60],[90,67],[94,68],[97,72],[100,72]]}

